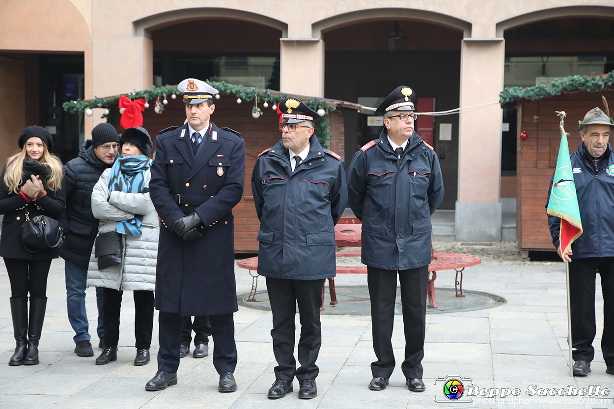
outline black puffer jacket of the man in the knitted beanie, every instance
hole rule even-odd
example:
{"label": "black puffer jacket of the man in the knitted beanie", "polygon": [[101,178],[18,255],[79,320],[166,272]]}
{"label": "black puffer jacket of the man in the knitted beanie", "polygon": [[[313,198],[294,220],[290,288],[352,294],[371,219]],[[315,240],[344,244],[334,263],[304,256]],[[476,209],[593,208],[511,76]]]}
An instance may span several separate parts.
{"label": "black puffer jacket of the man in the knitted beanie", "polygon": [[91,139],[85,141],[78,157],[64,165],[66,212],[60,221],[64,225],[66,240],[60,257],[85,270],[98,233],[98,219],[91,213],[91,191],[104,169],[111,166],[98,159]]}

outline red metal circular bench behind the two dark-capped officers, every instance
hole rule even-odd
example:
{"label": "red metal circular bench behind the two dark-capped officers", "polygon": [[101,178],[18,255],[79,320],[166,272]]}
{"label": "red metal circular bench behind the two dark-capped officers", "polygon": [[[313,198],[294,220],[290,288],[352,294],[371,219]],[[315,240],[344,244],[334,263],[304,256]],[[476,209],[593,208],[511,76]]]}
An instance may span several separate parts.
{"label": "red metal circular bench behind the two dark-capped officers", "polygon": [[[361,247],[361,229],[360,221],[356,217],[341,217],[339,223],[335,226],[335,244],[340,247]],[[456,278],[454,279],[454,289],[456,297],[465,297],[462,292],[462,278],[465,267],[471,267],[480,264],[480,257],[471,254],[446,253],[433,251],[431,245],[431,262],[429,264],[429,284],[427,295],[429,297],[429,307],[437,308],[437,300],[435,299],[435,280],[437,279],[437,271],[440,270],[455,270]],[[360,257],[360,251],[338,251],[335,257]],[[258,257],[250,257],[249,259],[239,260],[237,265],[241,268],[249,270],[252,276],[252,289],[249,292],[249,297],[246,301],[255,301],[256,289],[258,287]],[[344,266],[337,265],[337,274],[366,274],[367,266]],[[328,278],[328,292],[330,293],[330,305],[338,303],[335,291],[335,278]],[[324,287],[322,287],[322,309],[324,309]]]}

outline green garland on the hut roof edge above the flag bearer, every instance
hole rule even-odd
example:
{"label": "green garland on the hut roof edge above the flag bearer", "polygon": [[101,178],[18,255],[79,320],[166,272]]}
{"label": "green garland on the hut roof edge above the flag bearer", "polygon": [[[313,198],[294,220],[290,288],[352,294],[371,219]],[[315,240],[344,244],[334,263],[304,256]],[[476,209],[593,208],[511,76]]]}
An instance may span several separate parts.
{"label": "green garland on the hut roof edge above the flag bearer", "polygon": [[614,71],[602,76],[571,76],[553,79],[548,85],[540,84],[535,87],[507,87],[499,93],[499,104],[516,102],[519,99],[535,101],[571,92],[602,92],[612,84],[614,84]]}

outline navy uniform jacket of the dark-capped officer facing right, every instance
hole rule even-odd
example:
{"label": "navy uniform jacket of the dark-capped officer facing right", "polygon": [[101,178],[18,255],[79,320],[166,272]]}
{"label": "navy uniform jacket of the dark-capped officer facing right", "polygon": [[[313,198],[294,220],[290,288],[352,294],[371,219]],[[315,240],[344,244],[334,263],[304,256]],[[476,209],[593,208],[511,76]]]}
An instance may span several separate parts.
{"label": "navy uniform jacket of the dark-capped officer facing right", "polygon": [[379,139],[356,152],[348,169],[349,206],[362,222],[362,262],[384,270],[410,270],[430,264],[430,216],[443,199],[437,154],[417,133],[401,161]]}

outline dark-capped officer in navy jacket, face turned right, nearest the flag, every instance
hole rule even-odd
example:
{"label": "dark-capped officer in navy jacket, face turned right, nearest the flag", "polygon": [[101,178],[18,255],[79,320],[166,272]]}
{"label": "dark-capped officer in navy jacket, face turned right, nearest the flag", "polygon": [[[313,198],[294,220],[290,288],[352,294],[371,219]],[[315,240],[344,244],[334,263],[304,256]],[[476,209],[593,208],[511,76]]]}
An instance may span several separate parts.
{"label": "dark-capped officer in navy jacket, face turned right, nearest the flag", "polygon": [[410,391],[424,391],[422,357],[426,333],[430,216],[443,199],[437,155],[414,131],[416,93],[395,89],[379,104],[384,128],[379,139],[356,152],[348,169],[349,206],[362,221],[362,262],[367,265],[371,298],[373,380],[369,389],[386,389],[394,370],[397,276],[401,284],[405,360]]}

